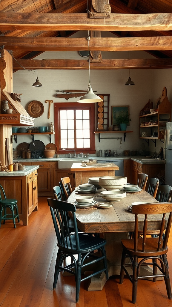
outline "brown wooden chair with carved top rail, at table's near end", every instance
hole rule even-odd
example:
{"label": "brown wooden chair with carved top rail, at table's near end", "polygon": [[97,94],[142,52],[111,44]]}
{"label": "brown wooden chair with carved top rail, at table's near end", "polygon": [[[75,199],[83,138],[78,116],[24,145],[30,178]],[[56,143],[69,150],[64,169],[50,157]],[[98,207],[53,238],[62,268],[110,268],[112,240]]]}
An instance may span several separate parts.
{"label": "brown wooden chair with carved top rail, at table's near end", "polygon": [[[135,214],[135,226],[134,226],[134,239],[122,239],[122,260],[121,260],[121,273],[120,273],[120,284],[123,282],[124,272],[127,277],[133,284],[132,291],[132,303],[136,303],[137,295],[137,282],[138,279],[153,278],[153,281],[156,282],[157,277],[164,278],[166,291],[169,299],[172,299],[171,287],[170,287],[170,278],[168,271],[168,263],[166,259],[166,253],[168,251],[167,242],[170,234],[170,227],[172,222],[172,203],[150,203],[150,204],[139,204],[132,206],[132,213]],[[169,216],[166,216],[166,213],[170,213]],[[144,223],[139,223],[140,220],[143,220]],[[148,238],[146,236],[147,229],[149,229],[149,215],[162,214],[162,221],[160,222],[160,232],[159,237]],[[167,225],[167,226],[166,226]],[[138,237],[138,230],[142,228],[143,237]],[[166,228],[164,239],[163,233]],[[125,259],[129,257],[131,263],[125,263]],[[140,258],[140,261],[139,261]],[[147,261],[147,262],[145,262]],[[129,274],[126,267],[131,268],[133,274]],[[149,276],[140,275],[141,266],[152,266],[152,274]],[[157,272],[157,267],[160,271]]]}

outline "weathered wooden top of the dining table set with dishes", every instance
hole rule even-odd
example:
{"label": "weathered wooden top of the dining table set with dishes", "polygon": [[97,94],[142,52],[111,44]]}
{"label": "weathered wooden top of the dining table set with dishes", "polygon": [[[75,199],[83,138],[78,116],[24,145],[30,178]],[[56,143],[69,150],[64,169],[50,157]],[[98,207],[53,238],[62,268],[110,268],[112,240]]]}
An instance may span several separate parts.
{"label": "weathered wooden top of the dining table set with dishes", "polygon": [[[73,203],[76,201],[76,195],[94,196],[94,199],[100,202],[107,202],[98,194],[105,189],[98,189],[94,193],[80,194],[75,191],[69,196],[68,201]],[[136,201],[157,202],[150,194],[145,191],[126,193],[126,197],[120,201],[113,202],[113,206],[108,209],[95,208],[92,210],[77,210],[76,218],[80,230],[84,232],[119,232],[119,231],[134,231],[135,215],[126,210],[126,207]],[[148,216],[148,229],[160,229],[161,215]],[[142,223],[142,222],[140,222]]]}

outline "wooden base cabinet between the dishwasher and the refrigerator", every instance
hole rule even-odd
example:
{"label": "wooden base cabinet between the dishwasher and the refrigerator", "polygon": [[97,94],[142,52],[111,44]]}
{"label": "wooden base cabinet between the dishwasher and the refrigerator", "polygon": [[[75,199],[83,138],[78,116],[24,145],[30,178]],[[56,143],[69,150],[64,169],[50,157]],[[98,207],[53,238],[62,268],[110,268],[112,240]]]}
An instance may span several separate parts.
{"label": "wooden base cabinet between the dishwasher and the refrigerator", "polygon": [[156,178],[159,173],[164,170],[165,164],[141,164],[132,161],[132,183],[137,185],[138,174],[145,173],[148,174],[148,178]]}

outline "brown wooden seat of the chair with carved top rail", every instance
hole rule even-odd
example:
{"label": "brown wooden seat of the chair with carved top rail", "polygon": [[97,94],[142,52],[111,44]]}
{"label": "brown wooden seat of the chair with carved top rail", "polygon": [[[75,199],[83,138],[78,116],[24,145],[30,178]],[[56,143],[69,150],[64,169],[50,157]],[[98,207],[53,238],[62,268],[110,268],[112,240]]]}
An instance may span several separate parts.
{"label": "brown wooden seat of the chair with carved top rail", "polygon": [[147,238],[146,239],[146,245],[145,245],[145,251],[142,252],[142,239],[138,239],[138,248],[137,251],[134,251],[134,239],[122,239],[122,247],[127,249],[127,253],[129,253],[132,256],[142,256],[142,257],[150,257],[150,256],[158,256],[166,254],[168,251],[168,247],[166,249],[162,248],[162,244],[160,247],[160,250],[157,251],[157,244],[158,244],[159,238]]}

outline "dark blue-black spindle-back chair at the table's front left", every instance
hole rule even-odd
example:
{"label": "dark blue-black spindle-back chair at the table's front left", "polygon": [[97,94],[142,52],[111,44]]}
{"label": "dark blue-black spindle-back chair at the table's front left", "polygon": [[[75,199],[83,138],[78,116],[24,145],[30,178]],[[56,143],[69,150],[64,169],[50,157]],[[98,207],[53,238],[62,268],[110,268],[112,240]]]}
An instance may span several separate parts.
{"label": "dark blue-black spindle-back chair at the table's front left", "polygon": [[[61,271],[66,271],[75,275],[76,281],[76,303],[79,300],[80,282],[91,278],[97,274],[105,272],[108,279],[107,259],[105,252],[105,239],[95,238],[92,235],[85,233],[78,233],[77,221],[75,216],[76,207],[74,204],[56,200],[47,199],[50,206],[51,216],[54,223],[54,229],[57,235],[58,253],[54,272],[53,290],[56,288],[58,274]],[[71,234],[69,230],[69,219],[66,212],[72,212],[74,233]],[[65,227],[64,227],[65,225]],[[59,230],[60,227],[60,230]],[[101,251],[101,255],[96,255],[95,250]],[[75,256],[74,256],[75,255]],[[71,257],[73,260],[70,264],[63,263],[65,258]],[[90,261],[88,259],[91,258]],[[87,259],[87,261],[85,261]],[[103,260],[103,265],[100,262]],[[89,276],[84,276],[81,279],[81,269],[92,264],[97,264],[98,270],[95,270]],[[72,270],[74,268],[74,270]]]}

